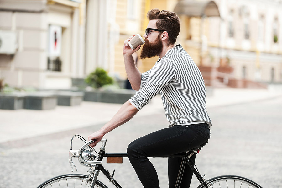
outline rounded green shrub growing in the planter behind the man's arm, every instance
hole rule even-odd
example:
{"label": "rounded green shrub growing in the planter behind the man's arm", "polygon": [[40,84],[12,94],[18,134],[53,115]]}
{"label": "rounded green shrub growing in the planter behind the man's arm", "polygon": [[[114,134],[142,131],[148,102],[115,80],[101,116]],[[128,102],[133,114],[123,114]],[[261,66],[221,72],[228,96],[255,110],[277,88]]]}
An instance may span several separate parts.
{"label": "rounded green shrub growing in the planter behind the man's arm", "polygon": [[104,69],[97,68],[87,76],[85,82],[93,88],[101,88],[104,85],[113,84],[113,79],[108,76]]}

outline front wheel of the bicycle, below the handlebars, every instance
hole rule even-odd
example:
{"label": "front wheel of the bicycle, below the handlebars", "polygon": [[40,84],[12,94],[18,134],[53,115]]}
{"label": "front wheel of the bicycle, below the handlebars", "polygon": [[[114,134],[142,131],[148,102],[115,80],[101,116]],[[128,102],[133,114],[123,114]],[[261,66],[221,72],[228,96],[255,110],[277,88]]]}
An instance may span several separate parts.
{"label": "front wheel of the bicycle, below the handlebars", "polygon": [[[51,178],[50,180],[44,181],[37,188],[55,188],[55,187],[68,188],[68,187],[76,187],[76,185],[77,187],[80,187],[80,188],[89,188],[90,183],[86,185],[84,181],[84,179],[87,179],[87,178],[88,176],[84,174],[64,174],[64,175],[59,175],[54,178]],[[106,185],[104,185],[99,180],[96,180],[94,187],[95,188],[108,188]]]}

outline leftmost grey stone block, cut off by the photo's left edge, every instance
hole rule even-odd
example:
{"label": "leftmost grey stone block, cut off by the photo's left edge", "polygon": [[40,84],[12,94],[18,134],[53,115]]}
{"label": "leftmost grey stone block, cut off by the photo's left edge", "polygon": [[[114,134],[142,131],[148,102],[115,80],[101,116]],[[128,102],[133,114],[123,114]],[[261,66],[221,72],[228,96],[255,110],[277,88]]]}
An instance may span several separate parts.
{"label": "leftmost grey stone block, cut off by the photo's left edge", "polygon": [[24,108],[25,95],[20,93],[0,94],[0,109],[18,110]]}

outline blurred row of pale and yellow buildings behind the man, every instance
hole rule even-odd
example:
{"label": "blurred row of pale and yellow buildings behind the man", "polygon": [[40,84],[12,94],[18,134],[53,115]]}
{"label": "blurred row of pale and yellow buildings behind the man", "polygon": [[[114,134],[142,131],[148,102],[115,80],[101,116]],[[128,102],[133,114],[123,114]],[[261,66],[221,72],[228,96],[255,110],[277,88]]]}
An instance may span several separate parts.
{"label": "blurred row of pale and yellow buildings behind the man", "polygon": [[[152,8],[175,11],[181,44],[215,87],[282,83],[281,0],[0,0],[0,78],[68,89],[102,67],[126,80],[123,41]],[[139,61],[141,72],[158,57]]]}

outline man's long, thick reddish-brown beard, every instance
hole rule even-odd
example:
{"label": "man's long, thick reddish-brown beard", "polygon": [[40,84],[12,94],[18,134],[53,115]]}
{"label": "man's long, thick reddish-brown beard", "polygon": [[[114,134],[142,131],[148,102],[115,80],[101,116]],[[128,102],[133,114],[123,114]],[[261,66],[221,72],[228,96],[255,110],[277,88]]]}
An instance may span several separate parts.
{"label": "man's long, thick reddish-brown beard", "polygon": [[145,44],[140,53],[140,59],[151,58],[159,55],[163,51],[163,43],[160,39],[160,35],[156,38],[154,42],[149,42],[147,38],[145,38]]}

